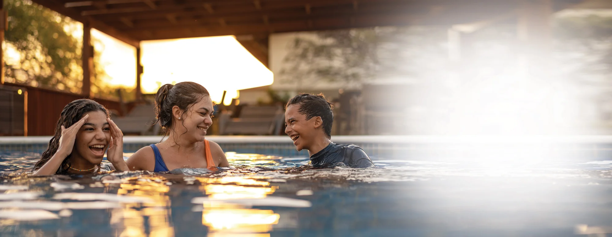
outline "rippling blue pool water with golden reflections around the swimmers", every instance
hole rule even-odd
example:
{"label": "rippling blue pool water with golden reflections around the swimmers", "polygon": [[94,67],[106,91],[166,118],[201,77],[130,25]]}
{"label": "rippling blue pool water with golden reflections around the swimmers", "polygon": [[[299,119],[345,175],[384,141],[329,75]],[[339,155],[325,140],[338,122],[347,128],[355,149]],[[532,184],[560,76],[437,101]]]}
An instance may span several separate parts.
{"label": "rippling blue pool water with golden reflections around the swimmers", "polygon": [[1,236],[606,236],[612,161],[482,164],[227,153],[210,172],[27,177],[0,153]]}

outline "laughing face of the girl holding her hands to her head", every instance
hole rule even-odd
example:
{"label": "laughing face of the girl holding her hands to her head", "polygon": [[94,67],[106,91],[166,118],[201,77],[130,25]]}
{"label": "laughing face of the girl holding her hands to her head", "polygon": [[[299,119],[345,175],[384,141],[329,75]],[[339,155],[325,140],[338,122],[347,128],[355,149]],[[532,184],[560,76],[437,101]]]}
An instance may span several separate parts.
{"label": "laughing face of the girl holding her hands to her head", "polygon": [[76,133],[71,158],[83,158],[91,164],[100,164],[111,139],[110,125],[102,111],[86,114],[89,118]]}

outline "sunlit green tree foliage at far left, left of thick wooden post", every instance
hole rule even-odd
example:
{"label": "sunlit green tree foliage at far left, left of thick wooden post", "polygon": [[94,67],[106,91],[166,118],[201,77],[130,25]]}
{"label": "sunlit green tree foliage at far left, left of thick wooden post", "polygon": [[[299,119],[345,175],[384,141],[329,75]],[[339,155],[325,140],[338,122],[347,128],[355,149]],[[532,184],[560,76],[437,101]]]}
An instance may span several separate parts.
{"label": "sunlit green tree foliage at far left, left of thick wooden post", "polygon": [[9,15],[5,40],[18,53],[17,62],[6,62],[7,79],[78,92],[83,43],[69,32],[82,29],[80,23],[29,0],[4,4]]}

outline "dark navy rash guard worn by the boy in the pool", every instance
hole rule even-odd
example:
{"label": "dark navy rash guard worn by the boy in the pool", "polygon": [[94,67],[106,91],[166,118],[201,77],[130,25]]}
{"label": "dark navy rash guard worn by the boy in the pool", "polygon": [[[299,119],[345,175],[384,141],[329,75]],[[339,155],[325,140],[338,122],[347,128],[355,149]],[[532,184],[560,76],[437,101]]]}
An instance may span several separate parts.
{"label": "dark navy rash guard worn by the boy in the pool", "polygon": [[314,167],[326,166],[343,162],[353,168],[373,167],[374,163],[365,154],[364,149],[353,144],[341,145],[330,142],[327,147],[310,156],[310,164]]}

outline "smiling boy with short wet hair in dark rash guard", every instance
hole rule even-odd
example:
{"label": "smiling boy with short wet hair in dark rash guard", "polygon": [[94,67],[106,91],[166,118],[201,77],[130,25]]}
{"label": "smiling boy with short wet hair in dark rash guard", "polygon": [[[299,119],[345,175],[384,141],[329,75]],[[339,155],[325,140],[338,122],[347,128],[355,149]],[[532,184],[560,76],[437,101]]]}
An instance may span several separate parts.
{"label": "smiling boy with short wet hair in dark rash guard", "polygon": [[338,162],[354,168],[373,167],[364,149],[356,145],[334,144],[332,104],[325,96],[301,93],[286,105],[285,133],[293,140],[298,151],[308,150],[310,164],[321,167]]}

